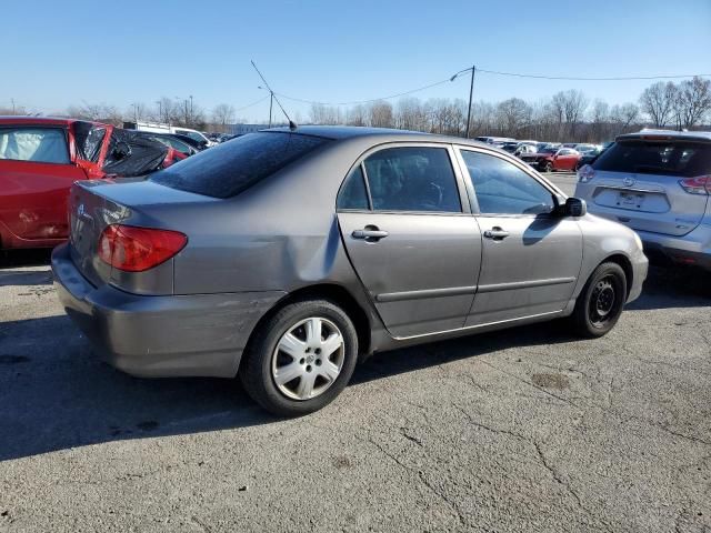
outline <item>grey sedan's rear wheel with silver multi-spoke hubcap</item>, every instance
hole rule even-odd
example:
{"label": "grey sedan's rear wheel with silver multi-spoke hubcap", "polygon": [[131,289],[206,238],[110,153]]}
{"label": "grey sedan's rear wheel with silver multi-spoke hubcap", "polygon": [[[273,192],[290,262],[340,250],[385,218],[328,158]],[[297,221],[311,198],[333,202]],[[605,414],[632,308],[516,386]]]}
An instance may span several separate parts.
{"label": "grey sedan's rear wheel with silver multi-spoke hubcap", "polygon": [[328,300],[301,300],[259,326],[239,375],[262,408],[279,416],[300,416],[333,401],[357,360],[358,334],[348,314]]}

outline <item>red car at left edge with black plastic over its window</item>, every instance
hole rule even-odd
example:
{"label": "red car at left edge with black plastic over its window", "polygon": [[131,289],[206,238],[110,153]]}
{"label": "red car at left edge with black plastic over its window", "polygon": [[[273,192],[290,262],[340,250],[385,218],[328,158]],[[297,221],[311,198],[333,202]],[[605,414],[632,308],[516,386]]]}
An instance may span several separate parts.
{"label": "red car at left edge with black plastic over its window", "polygon": [[0,117],[0,249],[51,248],[69,234],[77,180],[142,175],[184,155],[109,124]]}

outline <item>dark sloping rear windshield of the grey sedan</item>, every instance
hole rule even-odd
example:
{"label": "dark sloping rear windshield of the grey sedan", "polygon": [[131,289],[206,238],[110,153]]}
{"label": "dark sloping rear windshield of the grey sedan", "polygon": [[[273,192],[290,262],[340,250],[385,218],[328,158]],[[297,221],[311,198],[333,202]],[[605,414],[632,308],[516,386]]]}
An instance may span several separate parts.
{"label": "dark sloping rear windshield of the grey sedan", "polygon": [[150,180],[206,197],[230,198],[327,142],[298,133],[250,133],[183,159]]}

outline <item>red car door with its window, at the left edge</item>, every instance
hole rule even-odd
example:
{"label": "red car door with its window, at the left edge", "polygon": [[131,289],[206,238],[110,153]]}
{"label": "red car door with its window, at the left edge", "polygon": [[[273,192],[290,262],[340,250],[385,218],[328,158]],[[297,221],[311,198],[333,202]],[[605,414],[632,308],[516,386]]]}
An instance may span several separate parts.
{"label": "red car door with its window, at the left edge", "polygon": [[64,128],[0,127],[0,222],[16,238],[42,245],[66,239],[69,189],[84,178]]}

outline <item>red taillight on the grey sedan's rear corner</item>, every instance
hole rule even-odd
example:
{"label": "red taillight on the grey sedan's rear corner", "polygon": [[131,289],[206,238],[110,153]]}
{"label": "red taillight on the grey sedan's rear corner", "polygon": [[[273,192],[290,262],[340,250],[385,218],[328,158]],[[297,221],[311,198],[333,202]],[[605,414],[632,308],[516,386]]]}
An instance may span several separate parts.
{"label": "red taillight on the grey sedan's rear corner", "polygon": [[99,238],[99,258],[114,269],[142,272],[176,255],[188,237],[170,230],[108,225]]}

